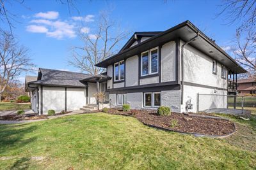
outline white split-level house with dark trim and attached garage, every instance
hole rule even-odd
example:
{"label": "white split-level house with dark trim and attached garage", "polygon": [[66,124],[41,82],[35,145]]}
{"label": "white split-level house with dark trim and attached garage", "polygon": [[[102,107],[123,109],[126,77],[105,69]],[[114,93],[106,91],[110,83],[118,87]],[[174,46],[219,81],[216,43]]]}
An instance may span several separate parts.
{"label": "white split-level house with dark trim and attached garage", "polygon": [[[47,71],[44,73],[39,69],[38,80],[28,83],[29,87],[37,88],[39,113],[46,113],[47,109],[57,110],[63,103],[65,110],[96,104],[92,94],[97,91],[106,92],[106,102],[110,107],[128,103],[132,109],[169,106],[172,111],[183,112],[191,97],[194,107],[189,111],[195,112],[199,93],[219,96],[218,99],[212,96],[205,100],[201,108],[223,108],[227,107],[227,94],[236,94],[237,74],[246,73],[189,21],[163,32],[135,32],[120,52],[95,66],[106,68],[106,74],[90,76],[55,71],[74,74],[67,84],[67,75],[54,83],[47,83],[53,81],[54,71],[48,70],[52,76],[44,76]],[[228,76],[233,84],[230,88]],[[85,93],[83,97],[70,95],[70,88],[76,85]],[[57,88],[61,92],[57,93]],[[72,107],[72,104],[77,107]]]}

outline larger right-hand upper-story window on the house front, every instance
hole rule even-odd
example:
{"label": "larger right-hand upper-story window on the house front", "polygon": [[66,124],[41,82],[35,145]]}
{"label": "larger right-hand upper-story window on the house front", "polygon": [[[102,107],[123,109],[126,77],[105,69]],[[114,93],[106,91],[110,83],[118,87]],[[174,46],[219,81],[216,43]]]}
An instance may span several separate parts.
{"label": "larger right-hand upper-story window on the house front", "polygon": [[158,73],[158,48],[141,53],[141,76]]}

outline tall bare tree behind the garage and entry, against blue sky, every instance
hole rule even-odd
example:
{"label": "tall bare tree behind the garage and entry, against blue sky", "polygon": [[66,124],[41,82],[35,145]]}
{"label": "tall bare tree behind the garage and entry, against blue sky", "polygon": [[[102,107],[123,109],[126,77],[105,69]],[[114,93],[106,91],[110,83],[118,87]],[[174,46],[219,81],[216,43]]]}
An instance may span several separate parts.
{"label": "tall bare tree behind the garage and entry, against blue sky", "polygon": [[129,32],[122,31],[118,24],[109,18],[108,13],[102,12],[92,33],[79,30],[77,34],[83,46],[72,47],[72,56],[68,63],[81,72],[95,75],[102,73],[104,69],[94,65],[117,53],[116,47],[127,38]]}

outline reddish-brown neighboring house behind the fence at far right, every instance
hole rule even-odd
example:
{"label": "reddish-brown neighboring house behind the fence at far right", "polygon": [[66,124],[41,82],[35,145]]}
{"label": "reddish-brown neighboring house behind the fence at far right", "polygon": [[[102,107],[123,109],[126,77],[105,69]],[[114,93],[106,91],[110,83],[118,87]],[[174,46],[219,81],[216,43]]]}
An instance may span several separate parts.
{"label": "reddish-brown neighboring house behind the fence at far right", "polygon": [[237,92],[239,94],[256,94],[255,78],[237,80],[237,83],[238,83]]}

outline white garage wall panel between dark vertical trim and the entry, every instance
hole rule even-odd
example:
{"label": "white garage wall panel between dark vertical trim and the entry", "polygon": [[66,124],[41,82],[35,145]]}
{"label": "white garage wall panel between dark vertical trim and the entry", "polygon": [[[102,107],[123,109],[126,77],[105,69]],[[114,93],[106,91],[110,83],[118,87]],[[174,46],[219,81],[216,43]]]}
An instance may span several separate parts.
{"label": "white garage wall panel between dark vertical trim and the entry", "polygon": [[67,88],[67,111],[79,110],[86,104],[86,90]]}

